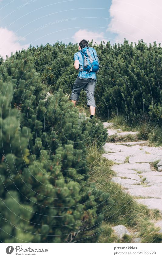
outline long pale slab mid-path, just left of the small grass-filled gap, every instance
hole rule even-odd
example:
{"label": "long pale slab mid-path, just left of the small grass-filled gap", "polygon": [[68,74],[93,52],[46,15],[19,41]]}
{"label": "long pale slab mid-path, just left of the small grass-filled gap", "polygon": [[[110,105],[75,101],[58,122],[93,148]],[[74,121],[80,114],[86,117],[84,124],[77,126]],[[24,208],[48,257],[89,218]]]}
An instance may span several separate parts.
{"label": "long pale slab mid-path, just left of the small grass-filled gap", "polygon": [[[142,164],[139,164],[139,163],[137,163],[137,164],[135,164],[135,163],[132,163],[132,164],[124,163],[124,164],[112,166],[112,170],[114,170],[116,173],[120,172],[120,173],[131,173],[132,174],[132,172],[130,172],[131,170],[134,170],[133,173],[136,173],[138,171],[148,172],[148,171],[151,171],[151,168],[150,168],[149,163],[142,163]],[[129,171],[127,171],[127,170],[129,170]],[[124,172],[124,171],[127,171],[127,172]]]}

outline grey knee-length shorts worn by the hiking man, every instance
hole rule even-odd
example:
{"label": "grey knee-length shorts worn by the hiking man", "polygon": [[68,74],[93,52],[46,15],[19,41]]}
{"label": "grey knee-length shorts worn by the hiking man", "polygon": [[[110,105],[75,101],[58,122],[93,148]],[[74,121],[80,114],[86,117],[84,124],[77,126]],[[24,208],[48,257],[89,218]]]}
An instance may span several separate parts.
{"label": "grey knee-length shorts worn by the hiking man", "polygon": [[80,77],[78,76],[75,80],[70,99],[77,101],[81,93],[81,90],[85,88],[87,95],[87,106],[96,107],[94,98],[96,81],[97,79],[92,78],[80,79]]}

